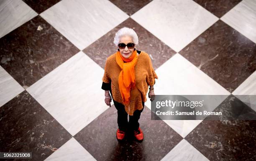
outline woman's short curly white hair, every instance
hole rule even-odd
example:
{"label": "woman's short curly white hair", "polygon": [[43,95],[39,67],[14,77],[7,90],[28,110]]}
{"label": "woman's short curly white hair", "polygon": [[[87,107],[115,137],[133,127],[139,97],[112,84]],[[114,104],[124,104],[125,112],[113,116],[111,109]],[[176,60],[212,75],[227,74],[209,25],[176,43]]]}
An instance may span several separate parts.
{"label": "woman's short curly white hair", "polygon": [[118,46],[118,43],[120,41],[120,37],[122,37],[122,36],[131,36],[133,38],[133,43],[135,45],[138,44],[137,33],[132,28],[123,27],[115,33],[115,38],[114,38],[114,41],[113,41],[115,43],[115,46]]}

